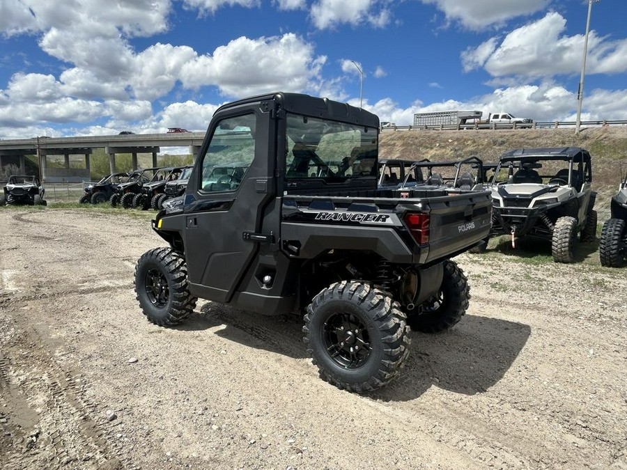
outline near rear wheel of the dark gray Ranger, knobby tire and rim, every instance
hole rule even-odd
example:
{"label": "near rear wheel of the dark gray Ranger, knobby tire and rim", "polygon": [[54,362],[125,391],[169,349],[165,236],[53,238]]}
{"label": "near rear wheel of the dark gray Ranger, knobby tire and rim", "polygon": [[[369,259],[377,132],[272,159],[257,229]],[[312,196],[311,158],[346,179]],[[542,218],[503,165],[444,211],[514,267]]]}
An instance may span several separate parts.
{"label": "near rear wheel of the dark gray Ranger, knobby tire and rim", "polygon": [[320,377],[357,393],[389,383],[409,354],[405,313],[369,283],[341,281],[323,289],[307,306],[302,331]]}

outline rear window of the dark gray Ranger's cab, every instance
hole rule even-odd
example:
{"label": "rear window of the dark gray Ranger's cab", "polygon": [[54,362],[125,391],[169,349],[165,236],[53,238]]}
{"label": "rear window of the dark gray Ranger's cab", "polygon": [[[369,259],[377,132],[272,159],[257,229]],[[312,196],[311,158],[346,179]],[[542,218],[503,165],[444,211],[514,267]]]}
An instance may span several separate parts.
{"label": "rear window of the dark gray Ranger's cab", "polygon": [[287,116],[286,180],[343,182],[377,176],[377,129]]}

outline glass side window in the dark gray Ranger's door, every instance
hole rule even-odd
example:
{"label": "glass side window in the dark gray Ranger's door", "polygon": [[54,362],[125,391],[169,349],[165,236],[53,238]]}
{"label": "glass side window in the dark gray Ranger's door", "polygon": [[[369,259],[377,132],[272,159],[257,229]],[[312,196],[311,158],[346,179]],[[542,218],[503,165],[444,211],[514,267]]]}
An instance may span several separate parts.
{"label": "glass side window in the dark gray Ranger's door", "polygon": [[222,119],[203,156],[201,191],[235,191],[255,157],[254,113]]}

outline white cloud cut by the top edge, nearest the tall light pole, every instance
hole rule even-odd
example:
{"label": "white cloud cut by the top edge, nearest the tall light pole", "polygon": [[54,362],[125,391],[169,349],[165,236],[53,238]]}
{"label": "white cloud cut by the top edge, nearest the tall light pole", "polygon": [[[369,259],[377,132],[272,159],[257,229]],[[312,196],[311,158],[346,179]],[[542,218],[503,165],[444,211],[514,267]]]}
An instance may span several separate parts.
{"label": "white cloud cut by the top edge, nearest the tall light pole", "polygon": [[459,22],[465,28],[480,30],[486,26],[502,26],[506,20],[531,15],[542,10],[550,0],[421,0],[441,10],[447,22]]}

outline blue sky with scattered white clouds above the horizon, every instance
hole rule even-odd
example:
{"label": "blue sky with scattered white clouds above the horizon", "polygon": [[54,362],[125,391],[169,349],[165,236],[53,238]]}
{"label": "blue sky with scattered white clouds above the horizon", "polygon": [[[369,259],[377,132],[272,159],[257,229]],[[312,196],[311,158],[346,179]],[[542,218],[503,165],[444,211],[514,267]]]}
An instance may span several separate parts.
{"label": "blue sky with scattered white clouds above the horizon", "polygon": [[[398,125],[574,120],[587,0],[0,0],[0,138],[205,130],[294,91]],[[583,120],[627,118],[625,0],[593,3]]]}

